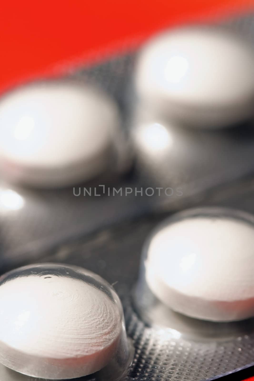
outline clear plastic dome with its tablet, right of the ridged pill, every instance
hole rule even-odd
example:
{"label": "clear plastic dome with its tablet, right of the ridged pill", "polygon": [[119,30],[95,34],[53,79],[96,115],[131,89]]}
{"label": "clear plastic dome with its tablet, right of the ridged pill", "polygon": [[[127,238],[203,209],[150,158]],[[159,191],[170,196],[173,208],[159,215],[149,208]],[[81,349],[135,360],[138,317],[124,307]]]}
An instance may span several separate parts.
{"label": "clear plastic dome with its tablet, right of the ridged pill", "polygon": [[254,216],[197,208],[166,219],[144,244],[134,303],[177,337],[225,338],[252,329]]}

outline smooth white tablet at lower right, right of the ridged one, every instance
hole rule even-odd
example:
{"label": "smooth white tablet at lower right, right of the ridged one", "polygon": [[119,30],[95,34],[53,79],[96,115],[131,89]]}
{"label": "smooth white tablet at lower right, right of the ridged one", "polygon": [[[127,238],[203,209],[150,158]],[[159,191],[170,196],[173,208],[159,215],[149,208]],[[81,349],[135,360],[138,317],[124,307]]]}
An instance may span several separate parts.
{"label": "smooth white tablet at lower right, right of the ridged one", "polygon": [[193,210],[152,235],[145,280],[176,312],[211,321],[254,316],[254,217]]}

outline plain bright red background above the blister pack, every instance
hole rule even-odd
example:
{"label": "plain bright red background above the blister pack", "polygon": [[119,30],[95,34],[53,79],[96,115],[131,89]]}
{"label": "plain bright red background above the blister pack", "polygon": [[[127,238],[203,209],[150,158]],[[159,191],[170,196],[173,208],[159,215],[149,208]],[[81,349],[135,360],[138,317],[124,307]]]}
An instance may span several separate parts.
{"label": "plain bright red background above the blister pack", "polygon": [[[254,9],[254,0],[5,2],[0,10],[0,91],[140,43],[155,30]],[[124,42],[124,45],[123,45]]]}

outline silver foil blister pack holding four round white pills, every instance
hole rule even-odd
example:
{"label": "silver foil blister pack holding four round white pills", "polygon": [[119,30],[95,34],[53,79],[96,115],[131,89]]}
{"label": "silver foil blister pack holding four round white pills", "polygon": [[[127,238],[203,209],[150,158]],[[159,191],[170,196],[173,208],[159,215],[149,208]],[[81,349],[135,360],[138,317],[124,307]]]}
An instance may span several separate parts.
{"label": "silver foil blister pack holding four round white pills", "polygon": [[[73,101],[62,94],[85,86],[90,103],[85,114],[77,109],[71,120],[78,126],[87,117],[93,126],[81,147],[70,145],[70,152],[77,153],[70,155],[75,165],[65,170],[59,151],[54,156],[58,171],[52,165],[50,176],[45,152],[40,171],[29,163],[33,144],[22,146],[21,153],[31,149],[31,155],[18,162],[17,150],[6,154],[10,136],[0,143],[0,272],[8,271],[0,277],[0,326],[5,327],[0,329],[1,381],[243,381],[254,376],[254,69],[249,65],[254,62],[254,14],[193,23],[173,33],[192,52],[200,35],[208,34],[211,44],[220,33],[230,43],[235,36],[240,47],[232,43],[229,58],[220,47],[221,62],[229,59],[233,66],[246,44],[250,58],[247,54],[234,66],[245,72],[249,68],[245,87],[236,81],[237,91],[221,88],[216,98],[197,90],[196,104],[190,105],[188,89],[183,100],[179,93],[184,90],[176,83],[169,116],[164,84],[149,85],[153,67],[139,74],[142,59],[153,55],[142,45],[64,77],[22,85],[0,101],[1,128],[1,121],[11,118],[11,102],[20,108],[24,99],[34,102],[35,118],[39,115],[41,121],[38,104],[48,102],[53,109],[54,99],[61,96],[62,128],[69,102],[76,107],[85,99],[80,101],[79,90],[73,91]],[[193,45],[188,42],[191,34]],[[171,65],[173,83],[191,69],[178,55]],[[212,70],[212,64],[205,67],[208,77]],[[236,74],[232,70],[228,75]],[[241,91],[233,99],[232,93]],[[97,108],[102,99],[96,112],[94,94]],[[107,102],[117,111],[104,109]],[[33,130],[27,115],[22,120],[15,125],[19,142]],[[107,136],[97,129],[102,120],[109,126]],[[187,121],[195,125],[197,120],[198,129],[186,127]],[[40,139],[52,139],[50,130],[45,136]],[[65,141],[58,138],[61,147]],[[84,144],[90,154],[86,162],[78,156]],[[25,267],[13,270],[18,266]],[[82,309],[88,302],[91,321]]]}

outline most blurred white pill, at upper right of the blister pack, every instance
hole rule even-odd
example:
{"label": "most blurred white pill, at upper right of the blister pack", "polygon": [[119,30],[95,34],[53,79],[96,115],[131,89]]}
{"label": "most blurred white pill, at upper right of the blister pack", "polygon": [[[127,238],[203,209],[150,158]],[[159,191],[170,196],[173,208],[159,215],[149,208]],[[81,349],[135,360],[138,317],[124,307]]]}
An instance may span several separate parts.
{"label": "most blurred white pill, at upper right of the blister pack", "polygon": [[137,95],[184,125],[223,127],[253,115],[254,52],[221,28],[189,27],[155,37],[141,51]]}

